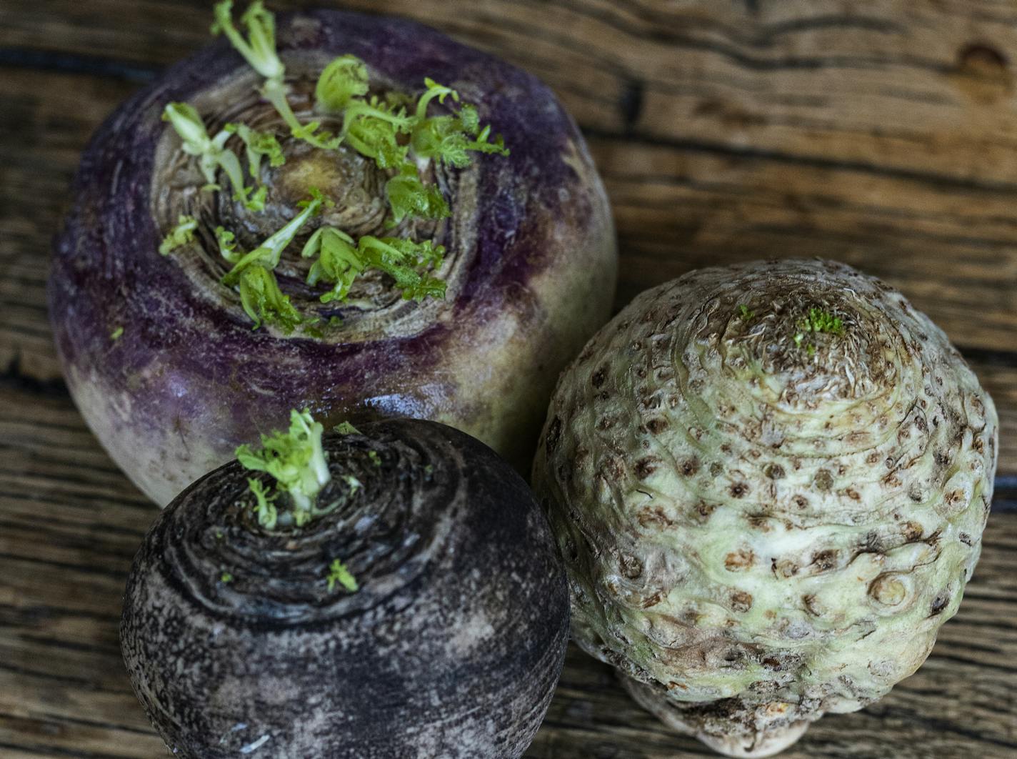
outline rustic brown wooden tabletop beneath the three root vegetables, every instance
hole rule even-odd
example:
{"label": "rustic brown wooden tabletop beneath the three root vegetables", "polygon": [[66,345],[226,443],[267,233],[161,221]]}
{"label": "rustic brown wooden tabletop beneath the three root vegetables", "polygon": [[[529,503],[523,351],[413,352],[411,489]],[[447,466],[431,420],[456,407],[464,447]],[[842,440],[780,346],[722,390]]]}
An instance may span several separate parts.
{"label": "rustic brown wooden tabletop beneath the three root vegetables", "polygon": [[[558,93],[613,201],[619,305],[704,265],[824,255],[900,287],[949,333],[1002,418],[981,563],[917,675],[785,756],[1017,755],[1017,2],[343,4],[421,19]],[[0,757],[167,753],[116,633],[155,508],[71,404],[44,288],[85,139],[205,42],[208,8],[0,1]],[[574,650],[527,756],[708,754]]]}

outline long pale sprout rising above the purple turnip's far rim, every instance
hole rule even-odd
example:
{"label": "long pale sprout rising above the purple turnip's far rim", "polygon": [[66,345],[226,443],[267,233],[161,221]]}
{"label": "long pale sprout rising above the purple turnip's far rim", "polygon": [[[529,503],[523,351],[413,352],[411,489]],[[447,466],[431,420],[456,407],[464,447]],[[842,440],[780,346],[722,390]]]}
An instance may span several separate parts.
{"label": "long pale sprout rising above the purple turnip's far rim", "polygon": [[223,0],[215,6],[216,22],[212,25],[212,34],[224,34],[250,64],[251,68],[264,77],[260,93],[264,96],[283,121],[290,127],[290,133],[297,139],[302,139],[315,148],[334,150],[342,141],[332,133],[318,131],[320,122],[311,121],[303,124],[293,113],[286,96],[286,66],[276,52],[276,17],[267,10],[261,0],[254,0],[240,16],[240,23],[247,30],[248,39],[233,23],[233,0]]}

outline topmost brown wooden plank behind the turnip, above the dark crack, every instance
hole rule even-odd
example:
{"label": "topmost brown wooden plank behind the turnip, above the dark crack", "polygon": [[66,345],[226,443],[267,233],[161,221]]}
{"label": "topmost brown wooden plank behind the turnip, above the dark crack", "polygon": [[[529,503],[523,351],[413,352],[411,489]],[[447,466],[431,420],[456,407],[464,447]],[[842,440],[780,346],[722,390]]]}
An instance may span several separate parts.
{"label": "topmost brown wooden plank behind the turnip, above the dark crack", "polygon": [[[211,15],[202,2],[143,0],[129,15],[117,0],[4,5],[0,47],[152,65],[203,44]],[[1017,158],[1005,149],[1014,147],[1017,130],[1007,51],[1017,43],[1017,20],[1008,3],[342,5],[413,17],[525,65],[590,126],[1013,188]],[[986,154],[986,147],[997,151]]]}

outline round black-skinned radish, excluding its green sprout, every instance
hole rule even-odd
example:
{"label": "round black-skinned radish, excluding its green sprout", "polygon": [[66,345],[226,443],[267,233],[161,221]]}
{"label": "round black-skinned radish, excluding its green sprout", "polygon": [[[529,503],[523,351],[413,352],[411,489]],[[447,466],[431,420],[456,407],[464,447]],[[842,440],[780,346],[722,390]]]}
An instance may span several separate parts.
{"label": "round black-skinned radish, excluding its green sprout", "polygon": [[[569,636],[545,516],[469,435],[414,419],[361,430],[324,437],[317,504],[336,506],[302,529],[261,528],[234,461],[148,532],[120,639],[175,756],[476,759],[533,739]],[[356,592],[330,588],[337,558]]]}

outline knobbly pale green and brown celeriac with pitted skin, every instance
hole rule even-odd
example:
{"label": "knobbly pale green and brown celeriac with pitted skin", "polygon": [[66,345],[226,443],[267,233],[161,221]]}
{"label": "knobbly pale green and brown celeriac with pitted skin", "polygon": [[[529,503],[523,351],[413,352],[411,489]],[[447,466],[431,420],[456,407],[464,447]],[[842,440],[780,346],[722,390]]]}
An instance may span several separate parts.
{"label": "knobbly pale green and brown celeriac with pitted skin", "polygon": [[944,333],[849,267],[648,290],[562,375],[534,464],[573,635],[669,725],[774,754],[925,659],[978,559],[997,435]]}

